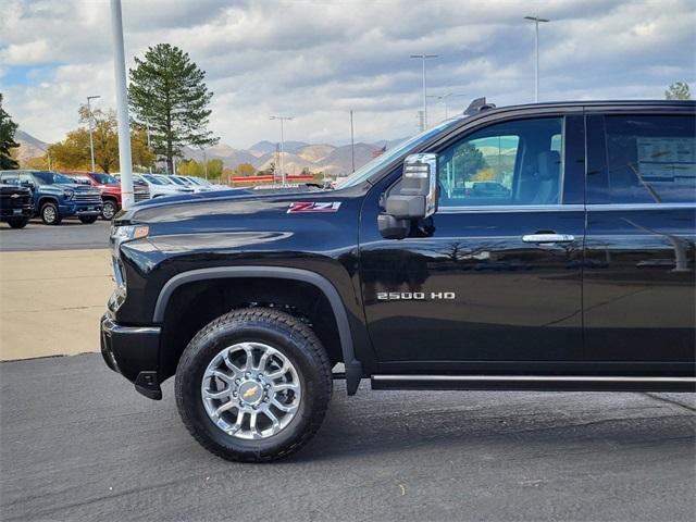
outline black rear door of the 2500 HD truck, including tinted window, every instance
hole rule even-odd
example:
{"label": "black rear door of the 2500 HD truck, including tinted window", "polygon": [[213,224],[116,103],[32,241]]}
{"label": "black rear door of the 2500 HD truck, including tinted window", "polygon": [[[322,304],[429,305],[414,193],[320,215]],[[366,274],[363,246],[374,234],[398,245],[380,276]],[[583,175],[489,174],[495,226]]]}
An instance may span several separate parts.
{"label": "black rear door of the 2500 HD truck, including tinted window", "polygon": [[588,359],[646,374],[694,371],[694,120],[647,109],[587,116]]}

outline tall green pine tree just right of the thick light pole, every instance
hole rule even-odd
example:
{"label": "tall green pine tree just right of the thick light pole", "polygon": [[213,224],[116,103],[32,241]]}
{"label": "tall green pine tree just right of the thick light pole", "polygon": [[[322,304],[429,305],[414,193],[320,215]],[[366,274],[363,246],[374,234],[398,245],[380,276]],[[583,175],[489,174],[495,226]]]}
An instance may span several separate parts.
{"label": "tall green pine tree just right of the thick light pole", "polygon": [[182,147],[203,148],[219,141],[207,128],[213,94],[203,83],[206,73],[177,47],[159,44],[135,62],[129,72],[130,107],[136,121],[149,126],[152,148],[172,173]]}

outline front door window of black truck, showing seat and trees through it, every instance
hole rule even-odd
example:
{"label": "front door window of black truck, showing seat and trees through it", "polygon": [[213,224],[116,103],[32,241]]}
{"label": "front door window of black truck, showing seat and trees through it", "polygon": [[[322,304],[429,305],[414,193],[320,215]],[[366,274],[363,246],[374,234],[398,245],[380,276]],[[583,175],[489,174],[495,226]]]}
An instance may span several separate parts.
{"label": "front door window of black truck, showing seat and trees through it", "polygon": [[563,181],[563,120],[492,125],[438,156],[442,208],[559,204]]}

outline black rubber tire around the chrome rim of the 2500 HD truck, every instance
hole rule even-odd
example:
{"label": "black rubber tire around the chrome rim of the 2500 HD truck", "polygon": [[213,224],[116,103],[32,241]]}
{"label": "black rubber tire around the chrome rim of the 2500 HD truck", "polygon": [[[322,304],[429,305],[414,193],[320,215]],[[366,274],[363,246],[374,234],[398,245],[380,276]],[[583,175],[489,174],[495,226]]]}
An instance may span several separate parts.
{"label": "black rubber tire around the chrome rim of the 2500 HD truck", "polygon": [[[287,357],[297,369],[302,395],[293,420],[275,435],[245,440],[223,432],[206,412],[201,383],[210,361],[225,347],[259,341]],[[316,433],[332,393],[331,362],[314,333],[274,309],[236,310],[209,323],[188,344],[176,369],[176,405],[190,434],[209,451],[238,462],[270,462],[297,451]]]}

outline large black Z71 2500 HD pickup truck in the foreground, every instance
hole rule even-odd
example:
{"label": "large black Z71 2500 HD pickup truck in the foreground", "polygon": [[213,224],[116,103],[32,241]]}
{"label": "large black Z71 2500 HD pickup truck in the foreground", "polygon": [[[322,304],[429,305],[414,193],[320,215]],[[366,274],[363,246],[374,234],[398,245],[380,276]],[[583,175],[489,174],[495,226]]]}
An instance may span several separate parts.
{"label": "large black Z71 2500 HD pickup truck in the foreground", "polygon": [[153,399],[176,375],[190,433],[240,461],[307,443],[333,378],[693,391],[695,112],[480,99],[335,189],[140,203],[104,360]]}

